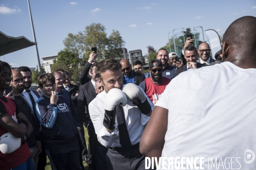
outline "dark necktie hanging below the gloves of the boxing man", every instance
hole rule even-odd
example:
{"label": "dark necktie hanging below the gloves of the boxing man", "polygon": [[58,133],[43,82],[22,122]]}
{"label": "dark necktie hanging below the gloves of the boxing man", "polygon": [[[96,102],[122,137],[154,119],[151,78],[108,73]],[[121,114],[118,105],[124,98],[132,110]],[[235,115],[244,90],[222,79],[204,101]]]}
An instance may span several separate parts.
{"label": "dark necktie hanging below the gloves of the boxing man", "polygon": [[130,156],[132,153],[131,140],[125,123],[125,113],[124,109],[120,105],[116,105],[116,120],[119,130],[119,140],[122,146],[122,152],[125,156]]}

